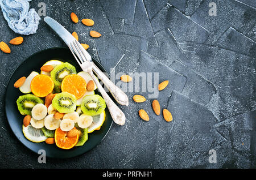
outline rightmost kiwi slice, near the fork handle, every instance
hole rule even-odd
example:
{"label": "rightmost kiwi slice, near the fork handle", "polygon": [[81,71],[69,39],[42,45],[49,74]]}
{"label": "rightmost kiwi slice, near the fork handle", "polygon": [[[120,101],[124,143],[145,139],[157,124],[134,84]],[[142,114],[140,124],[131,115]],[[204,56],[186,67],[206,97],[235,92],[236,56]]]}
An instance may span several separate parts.
{"label": "rightmost kiwi slice, near the fork handle", "polygon": [[81,110],[87,115],[101,114],[106,108],[106,102],[100,95],[87,95],[82,99]]}

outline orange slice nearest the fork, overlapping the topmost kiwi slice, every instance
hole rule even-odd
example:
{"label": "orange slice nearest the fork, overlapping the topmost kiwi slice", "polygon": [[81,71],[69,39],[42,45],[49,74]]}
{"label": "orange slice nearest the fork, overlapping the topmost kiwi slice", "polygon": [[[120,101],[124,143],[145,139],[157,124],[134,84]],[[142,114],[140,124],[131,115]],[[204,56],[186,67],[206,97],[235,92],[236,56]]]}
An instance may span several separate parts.
{"label": "orange slice nearest the fork, overlapping the topmost kiwi slice", "polygon": [[65,76],[60,88],[62,92],[69,92],[78,100],[86,92],[86,82],[80,75],[71,74]]}

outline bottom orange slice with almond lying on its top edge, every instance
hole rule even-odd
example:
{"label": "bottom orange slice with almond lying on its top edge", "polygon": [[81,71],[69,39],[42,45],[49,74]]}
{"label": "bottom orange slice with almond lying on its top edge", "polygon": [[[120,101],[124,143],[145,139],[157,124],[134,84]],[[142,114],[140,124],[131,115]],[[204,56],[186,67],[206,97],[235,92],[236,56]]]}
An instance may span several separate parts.
{"label": "bottom orange slice with almond lying on its top edge", "polygon": [[[76,129],[76,127],[74,128]],[[68,138],[67,134],[68,132],[62,131],[60,127],[55,130],[54,139],[57,147],[61,149],[71,149],[77,144],[79,134],[73,136],[72,138]]]}

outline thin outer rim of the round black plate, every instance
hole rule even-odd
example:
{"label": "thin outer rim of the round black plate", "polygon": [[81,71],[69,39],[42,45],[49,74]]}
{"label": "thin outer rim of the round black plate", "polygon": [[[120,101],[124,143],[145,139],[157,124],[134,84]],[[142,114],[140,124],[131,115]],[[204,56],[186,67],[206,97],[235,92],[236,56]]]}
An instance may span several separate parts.
{"label": "thin outer rim of the round black plate", "polygon": [[[4,98],[4,106],[5,106],[5,117],[6,117],[6,119],[7,119],[7,122],[8,122],[8,125],[9,125],[11,131],[12,131],[13,134],[15,135],[16,139],[18,139],[19,143],[23,144],[24,147],[26,147],[27,149],[30,149],[30,151],[32,151],[32,152],[34,152],[34,153],[36,153],[36,154],[38,154],[38,152],[36,152],[34,149],[31,149],[31,148],[29,148],[26,144],[24,144],[24,143],[19,139],[19,137],[15,134],[15,132],[14,132],[12,126],[10,125],[10,121],[9,121],[9,119],[8,119],[8,117],[7,117],[7,109],[6,109],[6,102],[7,102],[7,99],[6,99],[6,98],[7,98],[7,97],[6,97],[6,93],[7,93],[7,87],[9,87],[9,85],[10,85],[10,80],[11,80],[11,78],[13,77],[13,75],[15,74],[15,72],[18,70],[18,68],[19,68],[20,66],[22,66],[24,62],[27,61],[27,59],[31,58],[32,56],[34,56],[34,55],[36,55],[36,54],[42,53],[42,52],[47,51],[47,50],[52,50],[52,49],[65,49],[65,50],[69,50],[69,48],[65,48],[65,47],[53,47],[53,48],[47,48],[47,49],[39,50],[38,52],[35,52],[35,53],[29,55],[26,59],[24,59],[24,61],[23,61],[22,63],[19,64],[18,67],[15,68],[15,70],[14,70],[13,73],[11,74],[11,76],[10,76],[8,82],[7,82],[7,85],[6,85],[5,95],[3,96],[3,98]],[[74,58],[74,59],[75,59],[75,58]],[[101,65],[100,62],[98,62],[98,61],[97,61],[96,59],[94,59],[93,57],[92,57],[92,61],[93,61],[94,63],[96,63],[96,66],[98,66],[99,68],[102,68],[102,69],[106,72],[106,74],[109,76],[108,72],[105,70],[105,68]],[[77,62],[76,62],[76,63],[77,63]],[[77,64],[78,64],[78,63],[77,63]],[[108,92],[108,95],[110,95],[109,92]],[[110,96],[110,97],[111,97],[111,96]],[[103,138],[102,138],[100,141],[98,141],[98,142],[94,145],[94,147],[88,149],[88,150],[85,151],[85,152],[79,153],[79,154],[77,154],[77,155],[75,155],[75,156],[69,156],[69,157],[51,157],[51,156],[47,156],[47,154],[46,154],[46,157],[48,157],[48,158],[58,158],[58,159],[68,159],[68,158],[72,158],[72,157],[81,156],[81,155],[83,155],[83,154],[85,154],[85,153],[87,153],[87,152],[90,152],[90,151],[92,151],[93,148],[97,147],[97,145],[102,142],[102,140],[106,137],[106,135],[108,135],[108,133],[109,133],[110,128],[112,127],[112,125],[113,125],[113,119],[111,118],[111,123],[110,123],[109,129],[106,131],[106,134],[103,136]]]}

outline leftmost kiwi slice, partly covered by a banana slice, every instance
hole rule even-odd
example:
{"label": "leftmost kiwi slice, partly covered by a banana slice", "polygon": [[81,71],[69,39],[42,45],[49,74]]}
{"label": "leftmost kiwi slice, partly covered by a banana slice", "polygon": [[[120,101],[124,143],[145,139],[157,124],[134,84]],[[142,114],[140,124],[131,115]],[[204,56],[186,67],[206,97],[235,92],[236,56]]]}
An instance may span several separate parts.
{"label": "leftmost kiwi slice, partly covered by a banana slice", "polygon": [[39,97],[31,94],[19,96],[16,101],[20,114],[31,115],[31,110],[36,104],[43,104],[44,101]]}

